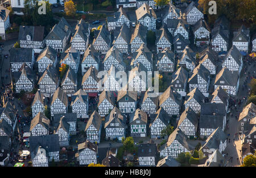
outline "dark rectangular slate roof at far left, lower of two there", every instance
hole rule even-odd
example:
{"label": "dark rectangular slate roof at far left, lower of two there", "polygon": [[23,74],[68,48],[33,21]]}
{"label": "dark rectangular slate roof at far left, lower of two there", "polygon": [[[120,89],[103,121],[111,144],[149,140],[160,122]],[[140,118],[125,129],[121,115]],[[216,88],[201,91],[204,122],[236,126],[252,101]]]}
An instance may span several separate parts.
{"label": "dark rectangular slate roof at far left, lower of two there", "polygon": [[10,63],[32,63],[32,48],[11,48]]}

